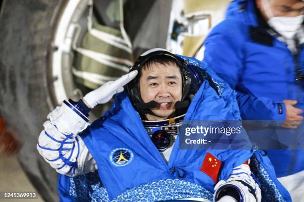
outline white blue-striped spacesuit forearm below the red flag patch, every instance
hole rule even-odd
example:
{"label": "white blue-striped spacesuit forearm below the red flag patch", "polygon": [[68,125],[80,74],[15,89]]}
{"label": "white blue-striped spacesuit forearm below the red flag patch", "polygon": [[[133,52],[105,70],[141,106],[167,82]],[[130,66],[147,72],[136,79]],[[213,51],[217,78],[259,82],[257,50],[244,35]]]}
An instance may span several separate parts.
{"label": "white blue-striped spacesuit forearm below the red flag patch", "polygon": [[[241,182],[240,182],[241,181]],[[250,193],[250,189],[243,183],[249,185],[253,190],[256,198]],[[221,180],[215,186],[214,202],[217,202],[217,197],[223,189],[232,187],[242,195],[242,202],[261,202],[261,189],[251,176],[249,165],[241,164],[235,168],[227,181]]]}

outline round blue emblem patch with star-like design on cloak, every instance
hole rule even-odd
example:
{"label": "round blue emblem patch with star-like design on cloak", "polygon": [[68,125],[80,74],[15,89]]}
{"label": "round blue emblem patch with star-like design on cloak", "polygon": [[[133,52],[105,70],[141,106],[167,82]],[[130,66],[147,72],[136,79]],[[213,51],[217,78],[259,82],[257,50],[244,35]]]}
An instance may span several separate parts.
{"label": "round blue emblem patch with star-like design on cloak", "polygon": [[118,167],[128,165],[133,158],[133,152],[127,148],[116,148],[110,153],[109,156],[111,163]]}

